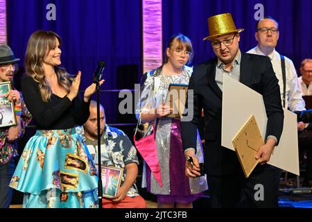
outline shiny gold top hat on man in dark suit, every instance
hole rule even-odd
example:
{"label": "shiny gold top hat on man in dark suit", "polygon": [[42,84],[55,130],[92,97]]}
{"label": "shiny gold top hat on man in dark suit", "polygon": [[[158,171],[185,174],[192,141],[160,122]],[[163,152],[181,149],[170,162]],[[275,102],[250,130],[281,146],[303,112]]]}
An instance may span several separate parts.
{"label": "shiny gold top hat on man in dark suit", "polygon": [[243,28],[236,28],[230,13],[214,15],[209,17],[207,20],[209,36],[205,37],[204,40],[211,40],[212,37],[228,33],[240,33],[244,30]]}

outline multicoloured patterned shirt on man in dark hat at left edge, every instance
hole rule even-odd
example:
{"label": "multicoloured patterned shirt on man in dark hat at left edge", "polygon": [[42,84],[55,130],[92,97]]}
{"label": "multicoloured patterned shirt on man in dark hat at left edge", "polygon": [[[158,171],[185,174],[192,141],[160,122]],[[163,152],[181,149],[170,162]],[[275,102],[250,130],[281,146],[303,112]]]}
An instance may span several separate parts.
{"label": "multicoloured patterned shirt on man in dark hat at left edge", "polygon": [[[19,94],[21,95],[21,92],[19,92]],[[18,155],[17,140],[24,135],[25,128],[30,121],[31,113],[27,110],[23,96],[21,95],[21,130],[19,131],[17,138],[9,141],[8,131],[10,127],[0,128],[0,165],[10,162],[13,157]]]}

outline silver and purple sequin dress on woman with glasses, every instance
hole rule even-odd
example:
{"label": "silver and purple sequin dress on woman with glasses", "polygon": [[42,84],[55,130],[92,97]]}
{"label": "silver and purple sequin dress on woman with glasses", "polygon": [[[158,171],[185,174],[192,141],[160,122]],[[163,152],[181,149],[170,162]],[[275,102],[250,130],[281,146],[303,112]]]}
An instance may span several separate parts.
{"label": "silver and purple sequin dress on woman with glasses", "polygon": [[[184,67],[179,75],[166,76],[162,74],[162,67],[150,71],[144,75],[146,80],[141,85],[140,101],[137,105],[137,117],[144,108],[155,108],[166,99],[170,83],[188,84],[191,77],[191,68]],[[180,119],[159,118],[155,120],[157,156],[161,168],[162,187],[147,165],[144,164],[143,187],[158,195],[160,202],[176,201],[191,202],[207,189],[206,176],[187,178],[185,176],[185,157],[182,151],[182,139],[180,134]],[[202,144],[198,135],[196,155],[203,162]]]}

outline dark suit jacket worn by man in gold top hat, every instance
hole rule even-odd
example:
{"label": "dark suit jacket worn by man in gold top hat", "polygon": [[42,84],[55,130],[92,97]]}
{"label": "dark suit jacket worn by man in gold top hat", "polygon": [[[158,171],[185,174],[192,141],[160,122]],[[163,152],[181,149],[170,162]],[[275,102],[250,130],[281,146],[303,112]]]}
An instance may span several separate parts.
{"label": "dark suit jacket worn by man in gold top hat", "polygon": [[[236,153],[221,146],[222,91],[216,84],[217,58],[193,69],[189,90],[193,89],[193,119],[181,121],[183,148],[196,147],[196,131],[202,108],[205,114],[205,171],[208,175],[225,175],[241,169]],[[281,106],[278,80],[270,59],[248,53],[241,54],[240,82],[263,96],[268,123],[266,135],[279,140],[283,130],[284,112]],[[243,98],[242,98],[243,99]],[[187,108],[187,104],[186,104]],[[230,123],[228,123],[230,124]]]}

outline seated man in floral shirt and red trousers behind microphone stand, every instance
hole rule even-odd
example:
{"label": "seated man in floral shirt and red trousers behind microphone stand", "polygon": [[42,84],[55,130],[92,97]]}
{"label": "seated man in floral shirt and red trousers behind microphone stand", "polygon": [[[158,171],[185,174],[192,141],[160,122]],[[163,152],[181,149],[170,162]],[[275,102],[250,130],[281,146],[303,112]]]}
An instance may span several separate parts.
{"label": "seated man in floral shirt and red trousers behind microphone stand", "polygon": [[[137,150],[123,131],[105,124],[105,112],[100,105],[101,164],[123,168],[123,178],[118,193],[112,199],[103,198],[103,208],[146,208],[144,198],[139,196],[135,180],[139,164]],[[84,126],[76,128],[92,155],[98,162],[96,101],[90,103],[90,116]]]}

